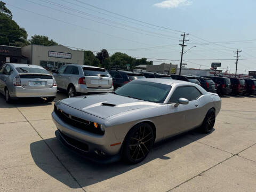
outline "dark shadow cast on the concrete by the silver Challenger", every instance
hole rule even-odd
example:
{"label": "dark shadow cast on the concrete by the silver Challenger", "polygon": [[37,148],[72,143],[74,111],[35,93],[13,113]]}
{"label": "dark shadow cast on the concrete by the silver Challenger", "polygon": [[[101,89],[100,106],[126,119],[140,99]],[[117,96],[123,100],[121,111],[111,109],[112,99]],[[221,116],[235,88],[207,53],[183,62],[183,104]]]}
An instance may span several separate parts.
{"label": "dark shadow cast on the concrete by the silver Challenger", "polygon": [[[206,135],[207,134],[202,134],[194,130],[183,133],[177,137],[158,142],[150,151],[147,158],[143,162],[135,165],[126,164],[122,161],[107,165],[91,162],[63,146],[56,137],[31,143],[30,152],[35,164],[41,170],[70,188],[78,188],[74,183],[70,183],[69,174],[59,174],[58,170],[50,169],[49,166],[57,167],[60,166],[61,162],[61,164],[65,166],[65,169],[67,169],[76,178],[79,184],[82,187],[86,187],[136,169],[137,167],[147,164],[154,159],[170,159],[171,157],[169,156],[172,151],[187,146]],[[45,145],[46,143],[47,145]],[[60,162],[56,161],[54,156],[52,156],[52,159],[45,158],[48,155],[45,154],[46,149],[43,150],[43,148],[47,148],[47,146],[51,148],[51,150],[48,150],[49,153],[54,153],[55,157],[57,157]]]}

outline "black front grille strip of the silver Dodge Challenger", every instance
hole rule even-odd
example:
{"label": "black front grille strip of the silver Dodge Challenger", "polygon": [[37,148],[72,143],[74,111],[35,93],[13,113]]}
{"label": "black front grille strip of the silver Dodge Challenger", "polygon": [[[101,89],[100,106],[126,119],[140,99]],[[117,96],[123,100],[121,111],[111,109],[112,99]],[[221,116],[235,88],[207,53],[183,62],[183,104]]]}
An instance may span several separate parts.
{"label": "black front grille strip of the silver Dodge Challenger", "polygon": [[63,122],[69,125],[72,125],[77,129],[88,131],[95,134],[100,134],[100,135],[103,135],[105,133],[100,130],[100,126],[95,128],[93,125],[93,122],[70,115],[63,110],[58,109],[55,105],[54,105],[54,112]]}

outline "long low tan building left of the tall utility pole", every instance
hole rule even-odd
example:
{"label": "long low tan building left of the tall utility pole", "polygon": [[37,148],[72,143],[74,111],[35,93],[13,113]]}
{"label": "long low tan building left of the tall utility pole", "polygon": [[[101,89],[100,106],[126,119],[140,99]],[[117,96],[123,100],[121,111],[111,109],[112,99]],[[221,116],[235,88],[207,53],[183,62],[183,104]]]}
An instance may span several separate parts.
{"label": "long low tan building left of the tall utility pole", "polygon": [[176,74],[178,65],[172,63],[162,63],[161,65],[147,65],[148,72],[156,72],[161,74]]}

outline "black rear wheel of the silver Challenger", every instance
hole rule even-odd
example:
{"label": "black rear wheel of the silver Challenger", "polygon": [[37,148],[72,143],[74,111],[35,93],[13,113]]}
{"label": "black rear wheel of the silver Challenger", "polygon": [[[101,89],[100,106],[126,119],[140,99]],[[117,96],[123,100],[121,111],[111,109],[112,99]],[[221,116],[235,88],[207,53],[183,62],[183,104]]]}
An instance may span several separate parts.
{"label": "black rear wheel of the silver Challenger", "polygon": [[200,127],[201,132],[203,133],[210,133],[213,129],[213,126],[215,124],[215,110],[213,108],[211,108],[205,118],[204,118],[204,122]]}

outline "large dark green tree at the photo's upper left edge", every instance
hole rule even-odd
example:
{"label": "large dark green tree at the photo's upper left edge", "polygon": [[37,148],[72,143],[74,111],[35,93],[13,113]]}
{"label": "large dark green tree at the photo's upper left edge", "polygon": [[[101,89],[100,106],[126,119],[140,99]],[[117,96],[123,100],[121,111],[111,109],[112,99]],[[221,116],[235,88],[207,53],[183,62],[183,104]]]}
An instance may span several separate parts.
{"label": "large dark green tree at the photo's upper left edge", "polygon": [[8,15],[0,13],[0,44],[2,45],[28,45],[27,31]]}

